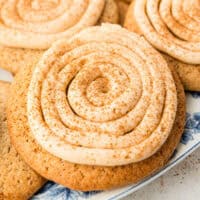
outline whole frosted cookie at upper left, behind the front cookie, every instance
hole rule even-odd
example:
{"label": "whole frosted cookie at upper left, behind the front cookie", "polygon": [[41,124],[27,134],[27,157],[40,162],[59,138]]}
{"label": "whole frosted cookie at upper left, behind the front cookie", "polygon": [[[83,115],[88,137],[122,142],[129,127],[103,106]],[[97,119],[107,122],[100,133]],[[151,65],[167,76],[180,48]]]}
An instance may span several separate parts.
{"label": "whole frosted cookie at upper left, behind the front cookie", "polygon": [[119,20],[114,0],[1,0],[0,10],[0,67],[13,74],[22,66],[34,66],[53,41],[87,26]]}

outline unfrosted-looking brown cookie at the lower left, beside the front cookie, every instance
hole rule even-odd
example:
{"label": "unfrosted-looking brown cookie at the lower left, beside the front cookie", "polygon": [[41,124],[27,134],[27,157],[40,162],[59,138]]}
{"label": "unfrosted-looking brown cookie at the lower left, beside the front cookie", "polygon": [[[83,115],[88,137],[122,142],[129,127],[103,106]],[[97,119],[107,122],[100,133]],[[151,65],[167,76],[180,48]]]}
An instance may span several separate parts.
{"label": "unfrosted-looking brown cookie at the lower left, beside the front cookie", "polygon": [[28,199],[43,184],[36,174],[18,155],[10,143],[7,129],[6,104],[10,84],[0,81],[0,199]]}

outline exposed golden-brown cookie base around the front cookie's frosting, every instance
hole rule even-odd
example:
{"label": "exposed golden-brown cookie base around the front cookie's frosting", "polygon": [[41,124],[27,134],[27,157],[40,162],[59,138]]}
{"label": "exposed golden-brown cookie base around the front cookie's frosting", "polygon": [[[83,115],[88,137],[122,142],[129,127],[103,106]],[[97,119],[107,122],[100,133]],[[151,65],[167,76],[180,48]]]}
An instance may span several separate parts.
{"label": "exposed golden-brown cookie base around the front cookie's frosting", "polygon": [[[93,29],[91,29],[91,31],[92,30]],[[115,28],[111,30],[115,31]],[[116,28],[116,30],[118,30],[118,28]],[[124,29],[123,31],[126,33],[128,32]],[[94,34],[94,32],[92,32],[92,34],[96,36],[96,38],[93,39],[99,38],[99,35]],[[120,37],[119,34],[122,33],[116,31],[113,34],[115,37],[117,37],[115,39],[118,40],[118,37]],[[129,34],[127,33],[127,37],[131,37],[132,34]],[[111,37],[109,34],[105,35]],[[140,41],[138,38],[139,37],[137,36],[137,41]],[[81,42],[80,40],[77,41]],[[145,44],[147,43],[145,42]],[[61,45],[63,48],[65,47],[63,41],[55,44],[54,48],[57,48],[57,45]],[[155,52],[151,47],[150,49]],[[52,58],[57,55],[54,55],[53,49],[49,50],[49,54],[51,53]],[[60,54],[62,53],[60,52]],[[48,58],[47,54],[45,56]],[[162,57],[159,56],[159,54],[157,56],[160,58],[160,61],[164,61]],[[91,59],[89,60],[91,61]],[[85,60],[81,63],[84,65],[85,62],[87,61]],[[177,113],[171,133],[164,145],[160,148],[160,150],[158,150],[157,153],[143,161],[115,167],[74,164],[58,158],[57,156],[54,156],[53,154],[47,152],[43,147],[41,147],[36,139],[34,139],[30,131],[27,118],[27,106],[24,105],[27,105],[27,93],[30,85],[30,80],[32,79],[33,70],[34,67],[24,68],[16,76],[12,86],[11,98],[9,99],[9,129],[12,142],[21,156],[31,167],[33,167],[35,170],[37,170],[38,173],[45,176],[46,178],[50,180],[53,179],[54,181],[69,188],[82,191],[102,190],[122,186],[128,183],[137,182],[163,167],[179,143],[183,132],[185,119],[185,95],[182,85],[176,73],[172,69],[176,82],[176,89],[178,91]],[[97,82],[95,84],[98,86]],[[100,89],[105,90],[106,88]],[[39,165],[39,163],[43,164]]]}

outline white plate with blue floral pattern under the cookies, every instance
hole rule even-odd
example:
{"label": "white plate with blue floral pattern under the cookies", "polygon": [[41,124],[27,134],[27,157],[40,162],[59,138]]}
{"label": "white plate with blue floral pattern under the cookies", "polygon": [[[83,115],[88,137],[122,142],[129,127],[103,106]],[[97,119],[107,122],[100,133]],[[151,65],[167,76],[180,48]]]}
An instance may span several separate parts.
{"label": "white plate with blue floral pattern under the cookies", "polygon": [[[0,69],[1,80],[12,80],[12,76]],[[137,184],[102,192],[79,192],[48,182],[31,200],[117,200],[152,182],[177,165],[200,146],[200,92],[187,93],[187,119],[181,142],[170,162],[159,172]]]}

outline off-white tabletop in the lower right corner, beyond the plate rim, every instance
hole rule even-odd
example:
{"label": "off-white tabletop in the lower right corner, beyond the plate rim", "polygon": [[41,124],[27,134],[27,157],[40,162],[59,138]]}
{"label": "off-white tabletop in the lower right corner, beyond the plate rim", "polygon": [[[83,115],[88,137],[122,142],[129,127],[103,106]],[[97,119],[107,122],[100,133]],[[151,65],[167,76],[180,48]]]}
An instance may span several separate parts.
{"label": "off-white tabletop in the lower right corner, beyond the plate rim", "polygon": [[200,199],[200,148],[165,175],[123,200]]}

